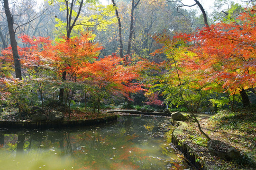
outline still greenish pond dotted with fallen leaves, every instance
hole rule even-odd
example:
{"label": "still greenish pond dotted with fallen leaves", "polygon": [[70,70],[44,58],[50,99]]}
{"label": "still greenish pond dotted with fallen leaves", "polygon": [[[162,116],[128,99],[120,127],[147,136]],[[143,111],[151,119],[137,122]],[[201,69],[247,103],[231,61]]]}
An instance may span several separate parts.
{"label": "still greenish pond dotted with fallen leaves", "polygon": [[117,122],[61,130],[0,129],[3,170],[193,170],[167,143],[170,119],[120,116]]}

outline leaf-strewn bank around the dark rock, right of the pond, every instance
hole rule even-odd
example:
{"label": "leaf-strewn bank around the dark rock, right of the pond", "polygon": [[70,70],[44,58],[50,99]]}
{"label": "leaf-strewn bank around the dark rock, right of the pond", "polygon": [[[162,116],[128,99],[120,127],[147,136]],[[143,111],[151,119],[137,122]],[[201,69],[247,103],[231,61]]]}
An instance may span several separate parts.
{"label": "leaf-strewn bank around the dark rock, right of the pond", "polygon": [[[199,115],[198,115],[199,116]],[[209,153],[207,140],[201,135],[197,125],[189,120],[189,126],[182,136],[199,156],[213,170],[255,170],[256,168],[256,114],[252,111],[220,111],[215,115],[200,115],[202,129],[211,139],[220,140],[237,148],[243,158],[226,161]],[[214,166],[215,165],[215,166]],[[216,166],[217,165],[217,166]]]}

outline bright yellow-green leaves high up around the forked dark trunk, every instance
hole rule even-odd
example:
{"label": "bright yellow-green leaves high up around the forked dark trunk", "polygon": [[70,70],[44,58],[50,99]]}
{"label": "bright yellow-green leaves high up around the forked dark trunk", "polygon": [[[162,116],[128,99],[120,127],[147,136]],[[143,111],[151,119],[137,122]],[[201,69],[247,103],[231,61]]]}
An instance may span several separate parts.
{"label": "bright yellow-green leaves high up around the forked dark trunk", "polygon": [[[60,12],[67,12],[66,11],[66,4],[63,0],[56,0],[59,5]],[[98,31],[106,31],[107,27],[116,22],[115,16],[115,9],[112,5],[104,6],[96,4],[97,0],[86,0],[83,6],[87,6],[87,12],[90,13],[80,13],[75,26],[73,26],[71,37],[78,36],[81,32],[87,31],[89,27],[94,27]],[[71,3],[69,3],[70,8]],[[79,4],[74,4],[73,7]],[[70,12],[70,11],[69,11]],[[66,15],[66,14],[65,14]],[[77,16],[77,12],[74,10],[72,11],[72,22],[74,18]],[[62,20],[61,18],[55,18],[55,41],[60,42],[62,40],[62,36],[66,35],[66,25],[67,21]],[[96,36],[92,34],[91,41]]]}

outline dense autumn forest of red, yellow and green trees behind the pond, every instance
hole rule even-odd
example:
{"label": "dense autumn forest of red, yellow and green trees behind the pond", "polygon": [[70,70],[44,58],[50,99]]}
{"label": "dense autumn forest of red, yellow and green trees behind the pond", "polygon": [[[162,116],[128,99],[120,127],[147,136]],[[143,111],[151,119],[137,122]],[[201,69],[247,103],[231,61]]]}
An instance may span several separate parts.
{"label": "dense autumn forest of red, yellow and green trees behind the pond", "polygon": [[[65,112],[255,106],[254,0],[3,0],[0,104]],[[209,10],[209,11],[208,11]]]}

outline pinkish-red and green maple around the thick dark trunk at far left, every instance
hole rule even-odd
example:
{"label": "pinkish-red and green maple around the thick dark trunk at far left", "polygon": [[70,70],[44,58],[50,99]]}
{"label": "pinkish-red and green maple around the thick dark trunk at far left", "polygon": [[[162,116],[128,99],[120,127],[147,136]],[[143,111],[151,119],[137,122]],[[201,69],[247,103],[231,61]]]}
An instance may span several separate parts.
{"label": "pinkish-red and green maple around the thick dark trunk at far left", "polygon": [[[28,103],[37,101],[37,92],[39,93],[42,107],[44,107],[44,92],[46,85],[50,85],[51,77],[51,63],[50,59],[44,58],[40,55],[40,52],[44,48],[51,46],[49,38],[45,37],[33,37],[30,38],[27,35],[21,35],[18,37],[22,40],[24,47],[18,47],[19,61],[22,65],[21,73],[24,77],[23,80],[17,82],[12,74],[12,48],[9,46],[2,51],[1,61],[2,68],[5,70],[5,76],[2,77],[1,82],[3,86],[8,86],[4,93],[6,100],[11,100],[15,107],[18,107],[19,114],[27,109]],[[7,69],[9,68],[9,69]],[[7,73],[9,72],[9,74]],[[10,85],[10,82],[12,82]],[[9,97],[9,99],[7,99]]]}

